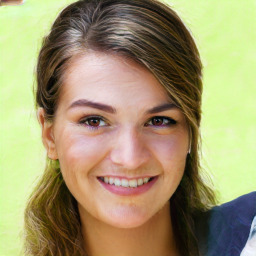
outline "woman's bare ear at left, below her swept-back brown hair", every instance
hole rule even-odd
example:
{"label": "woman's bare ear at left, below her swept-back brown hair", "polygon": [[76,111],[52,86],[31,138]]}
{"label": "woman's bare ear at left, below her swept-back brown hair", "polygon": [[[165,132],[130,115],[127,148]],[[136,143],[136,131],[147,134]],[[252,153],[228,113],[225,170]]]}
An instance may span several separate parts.
{"label": "woman's bare ear at left, below her swept-back brown hair", "polygon": [[42,141],[47,150],[47,155],[52,160],[58,159],[58,154],[53,136],[53,122],[46,120],[45,111],[39,108],[37,111],[37,118],[42,129]]}

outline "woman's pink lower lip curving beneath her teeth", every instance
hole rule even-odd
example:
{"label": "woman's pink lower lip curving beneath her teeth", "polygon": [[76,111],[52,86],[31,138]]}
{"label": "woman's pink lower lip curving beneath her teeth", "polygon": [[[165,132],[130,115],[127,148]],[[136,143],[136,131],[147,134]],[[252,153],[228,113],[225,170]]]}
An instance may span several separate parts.
{"label": "woman's pink lower lip curving beneath her teeth", "polygon": [[115,185],[110,185],[102,181],[101,179],[98,178],[98,181],[101,183],[101,185],[110,191],[113,194],[120,195],[120,196],[134,196],[134,195],[140,195],[148,191],[157,181],[158,176],[154,177],[150,182],[138,186],[136,188],[125,188],[122,186],[115,186]]}

